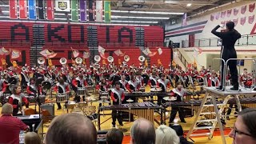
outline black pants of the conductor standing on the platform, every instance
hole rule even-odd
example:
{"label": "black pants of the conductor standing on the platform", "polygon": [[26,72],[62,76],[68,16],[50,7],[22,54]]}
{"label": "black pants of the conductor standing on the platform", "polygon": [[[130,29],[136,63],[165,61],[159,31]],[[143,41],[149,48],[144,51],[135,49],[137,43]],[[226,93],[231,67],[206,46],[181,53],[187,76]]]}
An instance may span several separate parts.
{"label": "black pants of the conductor standing on the platform", "polygon": [[[225,62],[229,59],[229,58],[237,58],[237,53],[234,49],[224,49],[222,52],[222,59],[225,60]],[[221,86],[225,86],[224,83],[224,78],[226,78],[226,75],[224,75],[224,62],[222,63],[222,77],[221,77]],[[237,69],[237,61],[236,60],[230,60],[227,65],[229,66],[230,69],[230,75],[231,75],[231,80],[232,80],[232,84],[234,86],[234,88],[238,88],[238,69]],[[227,73],[227,71],[226,71]]]}

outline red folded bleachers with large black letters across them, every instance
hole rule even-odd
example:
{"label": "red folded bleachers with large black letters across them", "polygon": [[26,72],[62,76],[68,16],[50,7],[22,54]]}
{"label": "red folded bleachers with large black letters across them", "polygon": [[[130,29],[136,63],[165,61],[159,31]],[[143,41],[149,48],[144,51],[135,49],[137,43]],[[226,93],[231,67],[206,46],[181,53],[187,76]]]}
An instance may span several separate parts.
{"label": "red folded bleachers with large black letters across them", "polygon": [[[37,27],[38,25],[40,28]],[[82,57],[82,51],[85,50],[96,55],[98,46],[102,46],[106,49],[106,57],[112,55],[116,64],[118,64],[118,56],[114,54],[114,50],[120,49],[130,56],[129,64],[134,63],[137,66],[138,56],[142,54],[139,46],[149,47],[152,52],[157,51],[157,47],[162,47],[163,54],[149,58],[150,64],[157,64],[158,59],[164,66],[170,63],[170,49],[163,47],[164,30],[160,26],[1,22],[0,31],[0,47],[24,51],[22,57],[17,59],[10,60],[10,56],[9,59],[8,56],[2,56],[9,64],[12,60],[17,60],[19,65],[30,64],[31,47],[35,47],[38,41],[42,42],[42,46],[38,46],[38,51],[49,49],[58,53],[52,58],[55,65],[59,64],[60,58],[67,58],[68,64],[71,64],[71,46],[81,52],[79,57]],[[123,58],[119,59],[123,61]],[[89,64],[90,60],[86,59],[86,63]]]}

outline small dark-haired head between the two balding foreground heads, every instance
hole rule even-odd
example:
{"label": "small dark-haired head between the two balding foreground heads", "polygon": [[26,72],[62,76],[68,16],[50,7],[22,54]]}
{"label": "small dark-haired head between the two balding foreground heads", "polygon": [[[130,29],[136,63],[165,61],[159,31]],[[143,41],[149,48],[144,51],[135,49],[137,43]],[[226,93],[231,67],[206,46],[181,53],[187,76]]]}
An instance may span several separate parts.
{"label": "small dark-haired head between the two balding foreground heads", "polygon": [[112,129],[106,134],[107,144],[122,144],[123,133],[121,130]]}

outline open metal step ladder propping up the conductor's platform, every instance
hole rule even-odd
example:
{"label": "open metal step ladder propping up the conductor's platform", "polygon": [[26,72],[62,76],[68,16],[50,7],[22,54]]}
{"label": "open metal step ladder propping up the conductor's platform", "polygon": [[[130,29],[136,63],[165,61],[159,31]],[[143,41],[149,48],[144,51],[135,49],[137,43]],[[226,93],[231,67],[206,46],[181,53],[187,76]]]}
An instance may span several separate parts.
{"label": "open metal step ladder propping up the conductor's platform", "polygon": [[[186,135],[186,138],[198,137],[198,136],[207,136],[209,139],[213,138],[214,130],[218,124],[218,128],[222,135],[222,143],[226,144],[226,138],[224,135],[221,115],[226,108],[227,102],[231,97],[234,97],[238,105],[238,110],[241,111],[241,104],[239,101],[239,94],[228,94],[225,91],[218,91],[214,87],[205,87],[206,96],[202,99],[198,113],[194,119],[194,123],[190,127],[189,133]],[[217,98],[222,98],[222,102],[217,102]],[[214,110],[214,111],[213,111]],[[209,117],[211,116],[211,117]],[[208,123],[207,126],[199,126],[202,123]],[[206,130],[205,133],[195,134],[197,130]]]}

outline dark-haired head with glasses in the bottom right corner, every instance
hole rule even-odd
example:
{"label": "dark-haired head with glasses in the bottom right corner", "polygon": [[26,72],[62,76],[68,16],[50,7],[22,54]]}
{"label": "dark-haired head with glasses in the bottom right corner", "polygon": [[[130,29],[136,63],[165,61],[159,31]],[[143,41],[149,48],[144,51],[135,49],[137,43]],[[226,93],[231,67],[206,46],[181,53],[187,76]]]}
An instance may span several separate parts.
{"label": "dark-haired head with glasses in the bottom right corner", "polygon": [[230,131],[230,138],[233,143],[256,143],[256,110],[245,109],[238,114],[233,130]]}

